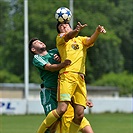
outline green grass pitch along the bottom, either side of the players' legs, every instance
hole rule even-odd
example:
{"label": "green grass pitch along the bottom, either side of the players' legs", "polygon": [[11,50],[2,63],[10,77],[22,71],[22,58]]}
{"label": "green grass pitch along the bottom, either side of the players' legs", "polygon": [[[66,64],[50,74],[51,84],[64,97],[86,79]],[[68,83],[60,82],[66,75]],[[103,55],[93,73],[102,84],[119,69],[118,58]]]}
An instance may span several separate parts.
{"label": "green grass pitch along the bottom, either side of the players' legs", "polygon": [[[133,133],[133,114],[88,114],[95,133]],[[36,133],[45,115],[0,115],[0,133]]]}

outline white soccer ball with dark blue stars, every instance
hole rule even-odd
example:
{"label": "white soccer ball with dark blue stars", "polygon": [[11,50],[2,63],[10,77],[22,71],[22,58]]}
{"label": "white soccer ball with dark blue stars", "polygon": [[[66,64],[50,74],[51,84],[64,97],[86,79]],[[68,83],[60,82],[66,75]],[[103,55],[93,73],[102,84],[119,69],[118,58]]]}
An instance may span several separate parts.
{"label": "white soccer ball with dark blue stars", "polygon": [[72,13],[71,11],[66,7],[60,7],[55,12],[55,18],[58,22],[69,22],[71,20]]}

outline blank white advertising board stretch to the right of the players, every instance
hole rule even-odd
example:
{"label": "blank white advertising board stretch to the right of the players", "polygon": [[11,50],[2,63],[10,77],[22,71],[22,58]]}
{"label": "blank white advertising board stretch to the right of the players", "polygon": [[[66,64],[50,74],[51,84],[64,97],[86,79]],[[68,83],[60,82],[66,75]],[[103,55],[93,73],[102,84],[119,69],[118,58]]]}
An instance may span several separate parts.
{"label": "blank white advertising board stretch to the right of the players", "polygon": [[94,107],[91,109],[93,113],[133,112],[132,98],[92,98],[91,100],[94,104]]}

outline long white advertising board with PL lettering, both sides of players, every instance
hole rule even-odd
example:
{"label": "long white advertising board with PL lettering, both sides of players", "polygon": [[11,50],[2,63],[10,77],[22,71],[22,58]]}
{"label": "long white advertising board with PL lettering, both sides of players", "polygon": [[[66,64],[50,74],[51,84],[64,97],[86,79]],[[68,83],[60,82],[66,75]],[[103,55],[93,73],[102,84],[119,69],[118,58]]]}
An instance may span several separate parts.
{"label": "long white advertising board with PL lettering, both sides of players", "polygon": [[[104,112],[133,113],[133,98],[91,98],[93,107],[85,114]],[[0,99],[0,114],[44,114],[40,99]]]}

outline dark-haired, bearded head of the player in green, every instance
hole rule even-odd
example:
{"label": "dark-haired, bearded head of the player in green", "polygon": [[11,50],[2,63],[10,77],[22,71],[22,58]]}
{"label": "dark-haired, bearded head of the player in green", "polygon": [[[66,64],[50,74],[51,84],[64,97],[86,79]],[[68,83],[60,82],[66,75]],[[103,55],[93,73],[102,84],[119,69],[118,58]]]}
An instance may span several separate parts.
{"label": "dark-haired, bearded head of the player in green", "polygon": [[29,41],[29,51],[32,54],[41,54],[41,52],[46,50],[46,45],[41,42],[38,38],[32,38]]}

